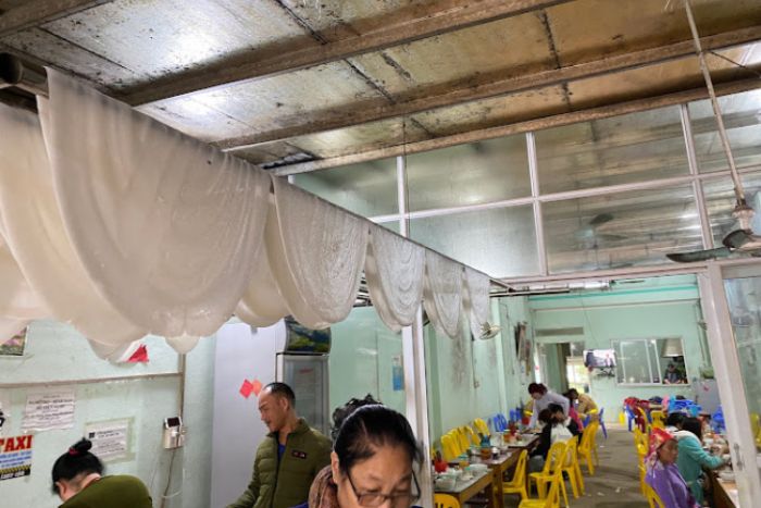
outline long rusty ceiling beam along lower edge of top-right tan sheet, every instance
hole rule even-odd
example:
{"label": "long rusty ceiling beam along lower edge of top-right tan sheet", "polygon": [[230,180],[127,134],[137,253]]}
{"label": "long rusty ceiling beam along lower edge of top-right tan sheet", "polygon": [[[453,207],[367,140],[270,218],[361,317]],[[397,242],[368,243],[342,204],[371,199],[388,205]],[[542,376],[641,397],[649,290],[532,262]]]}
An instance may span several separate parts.
{"label": "long rusty ceiling beam along lower edge of top-right tan sheet", "polygon": [[[701,38],[704,50],[720,50],[757,41],[761,38],[761,25],[738,30],[716,34]],[[612,74],[646,65],[668,62],[695,54],[691,40],[675,42],[658,48],[644,49],[623,54],[601,58],[590,62],[579,63],[560,69],[540,71],[516,77],[492,80],[482,85],[470,85],[451,88],[437,95],[425,95],[408,101],[392,104],[380,104],[372,108],[351,108],[333,110],[324,115],[326,119],[304,122],[303,124],[272,129],[229,139],[216,141],[214,145],[224,150],[240,150],[252,146],[287,139],[324,131],[351,127],[380,120],[406,116],[438,108],[464,104],[494,97],[507,96],[549,86],[561,85],[579,79]]]}

